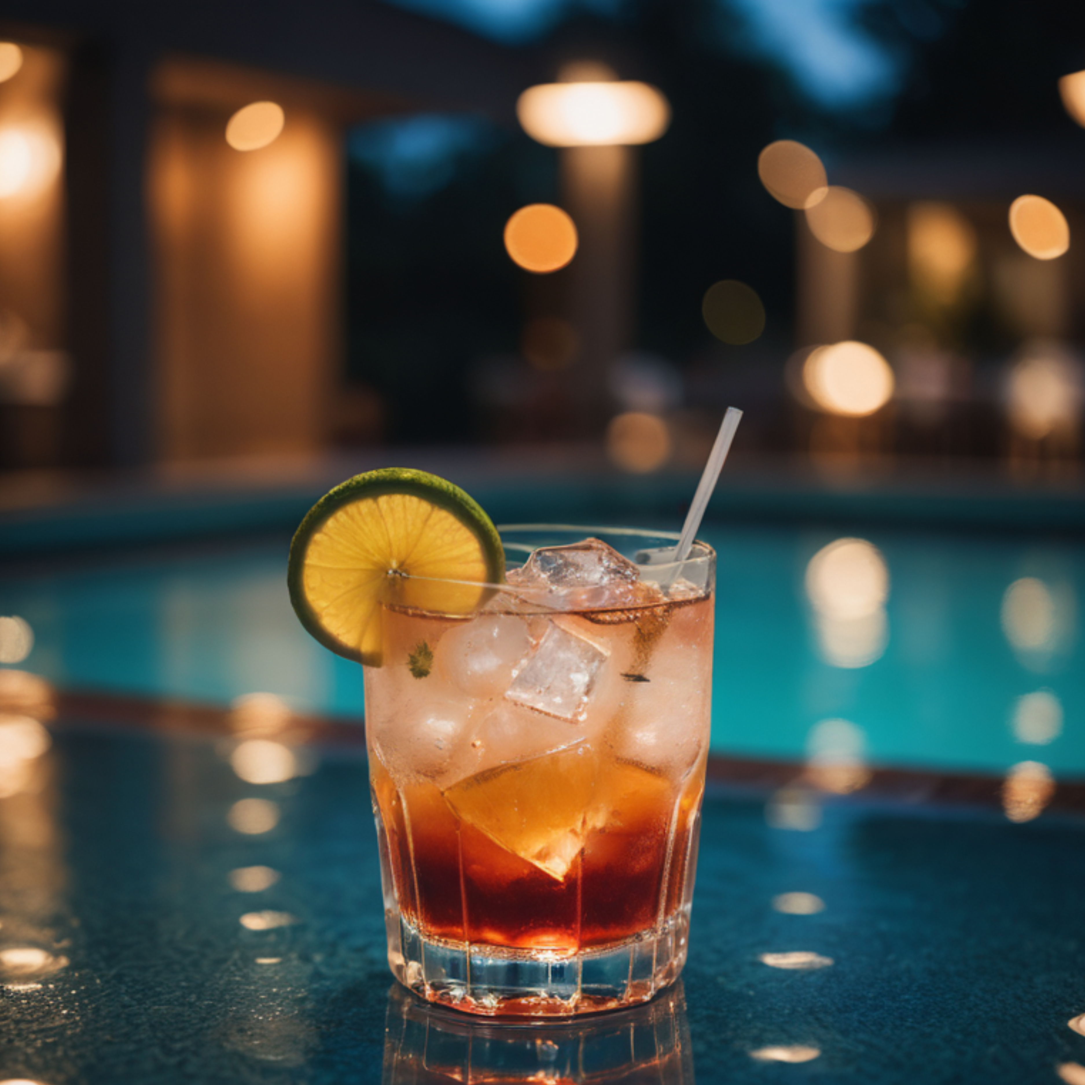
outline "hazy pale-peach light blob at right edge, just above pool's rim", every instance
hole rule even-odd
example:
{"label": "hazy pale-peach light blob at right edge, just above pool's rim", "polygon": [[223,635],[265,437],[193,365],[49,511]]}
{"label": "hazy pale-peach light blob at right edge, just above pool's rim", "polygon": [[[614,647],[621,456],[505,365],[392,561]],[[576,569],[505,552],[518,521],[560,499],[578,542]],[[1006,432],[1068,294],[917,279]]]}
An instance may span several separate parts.
{"label": "hazy pale-peach light blob at right edge, just above pool's rim", "polygon": [[1081,361],[1060,344],[1027,344],[1007,381],[1010,425],[1032,441],[1073,433],[1081,421],[1083,385]]}

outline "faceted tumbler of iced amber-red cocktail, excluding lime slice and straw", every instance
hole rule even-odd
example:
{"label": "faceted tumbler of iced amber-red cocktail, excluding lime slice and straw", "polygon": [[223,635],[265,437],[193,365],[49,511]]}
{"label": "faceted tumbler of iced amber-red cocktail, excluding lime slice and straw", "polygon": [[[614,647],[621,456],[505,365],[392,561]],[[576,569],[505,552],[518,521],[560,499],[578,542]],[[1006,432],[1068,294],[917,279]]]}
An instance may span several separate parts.
{"label": "faceted tumbler of iced amber-red cocktail, excluding lime slice and straw", "polygon": [[715,556],[501,536],[508,584],[469,615],[386,607],[366,668],[388,960],[474,1013],[643,1001],[686,959]]}

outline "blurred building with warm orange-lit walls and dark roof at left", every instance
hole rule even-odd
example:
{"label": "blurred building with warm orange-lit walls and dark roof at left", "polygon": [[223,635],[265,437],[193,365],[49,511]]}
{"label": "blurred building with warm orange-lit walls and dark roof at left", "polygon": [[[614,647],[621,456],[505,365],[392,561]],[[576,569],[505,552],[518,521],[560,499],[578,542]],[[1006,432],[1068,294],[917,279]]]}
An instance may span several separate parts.
{"label": "blurred building with warm orange-lit walls and dark roof at left", "polygon": [[[0,468],[327,447],[344,131],[511,117],[514,51],[375,2],[0,3]],[[282,107],[237,150],[231,115]]]}

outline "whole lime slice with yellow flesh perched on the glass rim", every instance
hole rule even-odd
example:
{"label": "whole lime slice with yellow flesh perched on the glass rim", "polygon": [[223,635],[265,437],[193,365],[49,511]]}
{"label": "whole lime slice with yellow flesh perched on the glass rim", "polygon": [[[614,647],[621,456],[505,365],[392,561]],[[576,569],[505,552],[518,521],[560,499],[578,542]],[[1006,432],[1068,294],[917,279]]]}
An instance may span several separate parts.
{"label": "whole lime slice with yellow flesh perched on the glass rim", "polygon": [[501,540],[476,501],[436,475],[385,468],[317,501],[294,535],[286,580],[320,643],[380,666],[382,603],[468,614],[503,577]]}

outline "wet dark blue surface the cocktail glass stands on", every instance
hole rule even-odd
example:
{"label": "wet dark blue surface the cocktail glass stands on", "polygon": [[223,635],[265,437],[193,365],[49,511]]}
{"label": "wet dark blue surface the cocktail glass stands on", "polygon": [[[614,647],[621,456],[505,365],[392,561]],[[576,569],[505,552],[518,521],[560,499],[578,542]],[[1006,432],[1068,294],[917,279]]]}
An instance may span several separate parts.
{"label": "wet dark blue surface the cocktail glass stands on", "polygon": [[525,1041],[392,990],[363,754],[276,726],[61,718],[48,749],[33,728],[8,744],[0,1077],[1085,1075],[1068,1025],[1085,1012],[1085,822],[1043,788],[1004,809],[717,786],[684,990]]}

